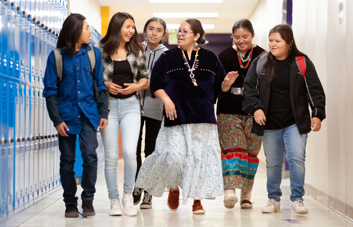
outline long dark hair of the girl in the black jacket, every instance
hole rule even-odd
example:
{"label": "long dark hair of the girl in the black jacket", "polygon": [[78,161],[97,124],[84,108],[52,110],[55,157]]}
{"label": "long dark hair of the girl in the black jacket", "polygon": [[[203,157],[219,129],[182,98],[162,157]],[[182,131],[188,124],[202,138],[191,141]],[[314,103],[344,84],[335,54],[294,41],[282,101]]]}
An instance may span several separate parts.
{"label": "long dark hair of the girl in the black jacket", "polygon": [[[290,59],[293,56],[306,56],[303,52],[299,51],[296,45],[296,41],[294,40],[293,36],[293,30],[291,27],[287,24],[279,24],[274,26],[270,32],[268,33],[268,36],[270,36],[272,33],[279,33],[281,38],[285,41],[287,45],[289,45],[289,52],[288,56]],[[276,59],[272,55],[271,51],[267,53],[267,60],[264,64],[264,69],[266,70],[266,78],[267,78],[267,83],[270,84],[274,78],[274,72],[276,68]]]}

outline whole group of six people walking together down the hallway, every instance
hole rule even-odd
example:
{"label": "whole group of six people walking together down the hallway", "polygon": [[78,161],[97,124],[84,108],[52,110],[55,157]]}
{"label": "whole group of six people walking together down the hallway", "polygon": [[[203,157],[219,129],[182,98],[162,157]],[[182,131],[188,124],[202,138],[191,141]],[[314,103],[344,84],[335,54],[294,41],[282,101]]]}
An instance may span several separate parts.
{"label": "whole group of six people walking together down the hallway", "polygon": [[[291,208],[308,213],[303,203],[306,140],[325,119],[325,94],[313,63],[298,50],[290,26],[270,30],[266,52],[252,43],[251,22],[239,20],[232,27],[234,45],[218,57],[200,47],[205,32],[199,20],[186,19],[175,32],[178,46],[168,50],[161,42],[166,24],[154,17],[145,24],[146,40],[141,43],[133,17],[116,13],[106,35],[93,47],[84,16],[72,14],[65,20],[57,42],[62,64],[57,64],[54,51],[49,54],[43,92],[60,134],[65,216],[79,216],[73,172],[76,134],[84,162],[82,215],[95,215],[97,127],[105,151],[109,215],[134,216],[141,200],[140,208],[152,208],[152,196],[162,196],[165,188],[172,211],[179,207],[179,188],[184,204],[188,198],[194,200],[194,214],[205,213],[202,199],[223,194],[224,206],[233,208],[238,202],[236,189],[241,189],[240,206],[252,208],[261,143],[269,199],[262,212],[280,211],[285,154]],[[63,68],[61,80],[57,67]],[[116,168],[119,129],[124,157],[122,199]]]}

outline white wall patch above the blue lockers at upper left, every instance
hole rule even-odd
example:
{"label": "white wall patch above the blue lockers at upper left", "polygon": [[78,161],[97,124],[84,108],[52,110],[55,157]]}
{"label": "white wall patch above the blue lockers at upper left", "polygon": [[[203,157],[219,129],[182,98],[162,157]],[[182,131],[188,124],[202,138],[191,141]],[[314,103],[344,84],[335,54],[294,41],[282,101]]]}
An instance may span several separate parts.
{"label": "white wall patch above the blue lockers at upper left", "polygon": [[68,0],[69,14],[82,14],[87,18],[88,23],[101,34],[102,19],[100,16],[100,7],[97,0]]}

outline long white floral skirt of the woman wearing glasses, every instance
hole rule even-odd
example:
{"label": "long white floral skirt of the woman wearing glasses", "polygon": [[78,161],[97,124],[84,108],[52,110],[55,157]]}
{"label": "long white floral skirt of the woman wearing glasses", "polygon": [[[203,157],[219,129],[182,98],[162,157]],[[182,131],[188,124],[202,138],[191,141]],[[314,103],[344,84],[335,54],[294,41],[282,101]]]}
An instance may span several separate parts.
{"label": "long white floral skirt of the woman wearing glasses", "polygon": [[182,188],[188,198],[213,199],[223,194],[222,168],[217,150],[217,126],[199,123],[164,127],[154,152],[142,164],[136,187],[161,197],[165,187]]}

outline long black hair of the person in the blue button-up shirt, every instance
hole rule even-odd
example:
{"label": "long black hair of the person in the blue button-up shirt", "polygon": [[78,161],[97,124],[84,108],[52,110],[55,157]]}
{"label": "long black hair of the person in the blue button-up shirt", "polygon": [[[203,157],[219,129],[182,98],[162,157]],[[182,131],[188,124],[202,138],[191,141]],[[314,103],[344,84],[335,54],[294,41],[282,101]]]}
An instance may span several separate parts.
{"label": "long black hair of the person in the blue button-up shirt", "polygon": [[68,16],[64,23],[59,37],[57,37],[56,48],[66,49],[71,55],[76,52],[76,43],[79,40],[83,21],[86,18],[81,14],[71,14]]}

